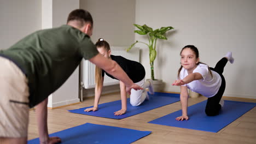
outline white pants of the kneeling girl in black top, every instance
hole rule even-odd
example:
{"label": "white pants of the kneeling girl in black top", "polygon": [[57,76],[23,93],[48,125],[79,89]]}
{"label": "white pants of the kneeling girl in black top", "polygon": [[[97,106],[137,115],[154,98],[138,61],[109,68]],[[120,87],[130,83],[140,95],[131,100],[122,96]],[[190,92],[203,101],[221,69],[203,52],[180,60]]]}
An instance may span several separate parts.
{"label": "white pants of the kneeling girl in black top", "polygon": [[140,89],[138,91],[136,91],[135,89],[131,89],[130,103],[132,106],[138,106],[143,103],[148,95],[147,91],[145,91],[145,88],[148,88],[150,86],[150,83],[148,81],[145,82],[145,77],[143,80],[136,82],[135,84],[141,86],[143,89]]}

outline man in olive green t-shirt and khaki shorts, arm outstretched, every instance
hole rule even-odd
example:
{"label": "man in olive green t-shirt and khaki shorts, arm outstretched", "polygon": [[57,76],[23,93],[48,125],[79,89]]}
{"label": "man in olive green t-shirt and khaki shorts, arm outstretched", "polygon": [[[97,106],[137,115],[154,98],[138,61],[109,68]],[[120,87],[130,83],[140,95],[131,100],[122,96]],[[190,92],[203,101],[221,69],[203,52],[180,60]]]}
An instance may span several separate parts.
{"label": "man in olive green t-shirt and khaki shorts, arm outstretched", "polygon": [[40,143],[57,143],[46,124],[48,96],[73,73],[82,58],[98,65],[131,88],[119,65],[101,56],[90,40],[93,21],[83,9],[73,10],[67,25],[34,32],[0,51],[0,142],[26,143],[28,113],[36,106]]}

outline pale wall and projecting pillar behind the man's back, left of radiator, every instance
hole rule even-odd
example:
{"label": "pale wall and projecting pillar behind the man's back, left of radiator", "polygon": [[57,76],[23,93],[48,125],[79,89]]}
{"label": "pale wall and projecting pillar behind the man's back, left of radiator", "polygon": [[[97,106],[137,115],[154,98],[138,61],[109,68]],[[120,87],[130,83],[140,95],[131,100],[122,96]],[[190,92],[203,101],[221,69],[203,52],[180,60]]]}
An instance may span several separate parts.
{"label": "pale wall and projecting pillar behind the man's back, left of radiator", "polygon": [[[26,35],[42,28],[66,24],[71,10],[79,8],[79,0],[1,0],[0,49],[8,49]],[[43,19],[43,20],[42,20]],[[78,69],[64,85],[49,97],[49,107],[77,103]]]}

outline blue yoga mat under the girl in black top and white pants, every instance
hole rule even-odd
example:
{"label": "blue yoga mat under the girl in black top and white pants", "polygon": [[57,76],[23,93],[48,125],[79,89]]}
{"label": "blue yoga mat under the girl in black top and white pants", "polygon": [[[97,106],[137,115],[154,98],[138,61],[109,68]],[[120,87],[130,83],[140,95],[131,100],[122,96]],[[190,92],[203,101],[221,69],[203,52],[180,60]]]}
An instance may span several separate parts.
{"label": "blue yoga mat under the girl in black top and white pants", "polygon": [[76,110],[69,110],[69,112],[80,113],[80,114],[90,115],[90,116],[97,116],[97,117],[122,119],[122,118],[130,117],[133,115],[137,115],[138,113],[153,110],[164,105],[172,104],[177,101],[179,101],[179,94],[155,92],[154,95],[150,95],[149,100],[144,101],[139,106],[132,106],[130,104],[130,99],[127,99],[127,111],[124,115],[121,115],[121,116],[114,115],[115,111],[118,111],[121,109],[121,100],[100,104],[98,105],[98,111],[94,111],[94,112],[84,111],[85,109],[92,106],[83,107]]}

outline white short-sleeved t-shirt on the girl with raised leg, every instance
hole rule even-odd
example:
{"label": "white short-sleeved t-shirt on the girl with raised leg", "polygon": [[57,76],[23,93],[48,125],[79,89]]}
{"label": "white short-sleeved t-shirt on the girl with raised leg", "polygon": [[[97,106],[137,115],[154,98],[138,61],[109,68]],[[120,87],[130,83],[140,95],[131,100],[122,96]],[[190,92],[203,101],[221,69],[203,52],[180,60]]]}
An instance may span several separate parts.
{"label": "white short-sleeved t-shirt on the girl with raised leg", "polygon": [[[200,93],[205,97],[213,97],[219,91],[219,87],[222,84],[222,78],[216,71],[212,71],[212,76],[210,71],[208,70],[208,66],[206,64],[200,63],[193,70],[193,73],[200,73],[203,79],[191,81],[183,86],[187,86],[191,91]],[[182,80],[184,77],[188,75],[188,71],[182,68],[181,73],[179,74],[179,78]]]}

